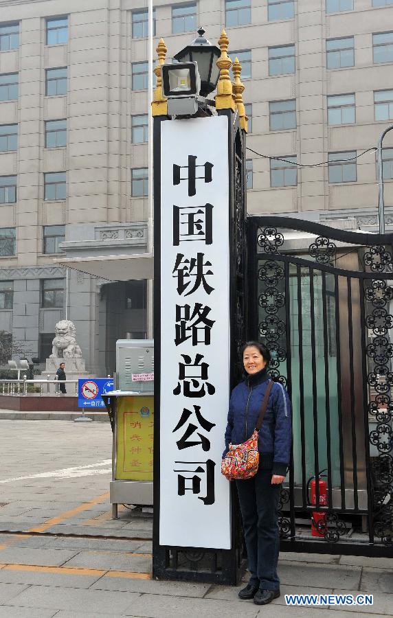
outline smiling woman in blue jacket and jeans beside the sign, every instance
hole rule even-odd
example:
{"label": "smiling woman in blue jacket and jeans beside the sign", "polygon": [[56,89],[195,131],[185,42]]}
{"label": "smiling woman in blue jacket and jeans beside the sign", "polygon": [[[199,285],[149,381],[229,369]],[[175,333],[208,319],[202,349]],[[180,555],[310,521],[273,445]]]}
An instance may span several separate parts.
{"label": "smiling woman in blue jacket and jeans beside the sign", "polygon": [[[229,443],[240,444],[251,437],[269,383],[267,347],[249,341],[243,346],[242,354],[247,376],[232,391],[223,457]],[[258,472],[251,479],[236,481],[251,575],[249,584],[238,596],[254,599],[256,605],[265,605],[280,596],[278,502],[289,466],[291,437],[288,393],[275,382],[258,435]]]}

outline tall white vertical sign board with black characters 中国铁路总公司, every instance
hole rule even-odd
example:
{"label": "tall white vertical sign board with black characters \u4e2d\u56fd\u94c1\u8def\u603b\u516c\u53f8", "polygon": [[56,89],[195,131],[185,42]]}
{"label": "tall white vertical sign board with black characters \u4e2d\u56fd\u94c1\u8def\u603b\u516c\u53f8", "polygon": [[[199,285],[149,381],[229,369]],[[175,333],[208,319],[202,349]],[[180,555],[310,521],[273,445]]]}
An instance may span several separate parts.
{"label": "tall white vertical sign board with black characters \u4e2d\u56fd\u94c1\u8def\u603b\u516c\u53f8", "polygon": [[161,123],[160,545],[231,548],[227,123]]}

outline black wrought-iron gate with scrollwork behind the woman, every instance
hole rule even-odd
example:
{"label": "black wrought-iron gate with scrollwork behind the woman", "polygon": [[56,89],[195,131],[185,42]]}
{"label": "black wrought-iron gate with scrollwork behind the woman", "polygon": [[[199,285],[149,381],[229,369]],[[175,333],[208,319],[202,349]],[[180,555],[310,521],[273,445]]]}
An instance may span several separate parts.
{"label": "black wrought-iron gate with scrollwork behind the woman", "polygon": [[[293,406],[281,549],[391,556],[393,235],[270,216],[247,226],[249,339],[271,350]],[[318,483],[310,504],[319,474],[327,506]]]}

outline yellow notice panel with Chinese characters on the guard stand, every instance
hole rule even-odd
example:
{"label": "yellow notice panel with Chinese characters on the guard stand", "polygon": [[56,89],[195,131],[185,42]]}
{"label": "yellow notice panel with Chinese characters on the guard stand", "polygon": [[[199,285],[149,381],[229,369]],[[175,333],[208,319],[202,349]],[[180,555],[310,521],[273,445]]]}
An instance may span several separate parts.
{"label": "yellow notice panel with Chinese characters on the guard stand", "polygon": [[115,479],[153,481],[154,397],[117,398]]}

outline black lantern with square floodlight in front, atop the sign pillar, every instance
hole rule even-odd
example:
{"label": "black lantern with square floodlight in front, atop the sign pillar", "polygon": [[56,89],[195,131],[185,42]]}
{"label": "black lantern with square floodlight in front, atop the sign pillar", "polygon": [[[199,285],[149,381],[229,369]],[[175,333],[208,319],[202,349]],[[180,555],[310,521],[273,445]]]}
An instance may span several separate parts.
{"label": "black lantern with square floodlight in front, atop the sign pillar", "polygon": [[216,62],[221,50],[207,41],[202,27],[198,34],[174,56],[176,63],[161,67],[162,91],[168,98],[169,115],[193,116],[200,106],[214,106],[206,96],[216,89],[220,75]]}

